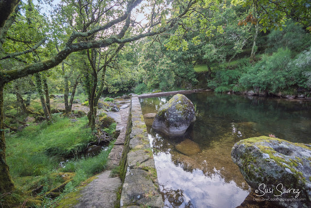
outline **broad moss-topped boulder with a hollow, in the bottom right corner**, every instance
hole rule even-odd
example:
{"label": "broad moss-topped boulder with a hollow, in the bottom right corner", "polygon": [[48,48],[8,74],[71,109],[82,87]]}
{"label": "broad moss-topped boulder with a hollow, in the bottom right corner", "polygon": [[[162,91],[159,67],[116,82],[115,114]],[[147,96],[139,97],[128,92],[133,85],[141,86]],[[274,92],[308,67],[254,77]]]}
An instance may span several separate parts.
{"label": "broad moss-topped boulder with a hollow, in the bottom right corner", "polygon": [[257,196],[282,207],[311,207],[310,144],[254,137],[237,142],[231,158]]}

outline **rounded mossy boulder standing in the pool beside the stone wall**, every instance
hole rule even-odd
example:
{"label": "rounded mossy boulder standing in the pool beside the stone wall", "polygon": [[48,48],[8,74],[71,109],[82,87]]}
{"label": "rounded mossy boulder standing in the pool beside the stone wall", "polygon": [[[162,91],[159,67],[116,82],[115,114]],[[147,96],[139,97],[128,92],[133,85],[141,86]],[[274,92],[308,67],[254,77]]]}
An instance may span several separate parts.
{"label": "rounded mossy boulder standing in the pool beside the stone wall", "polygon": [[178,136],[186,132],[195,121],[194,106],[185,95],[174,95],[155,115],[152,127],[169,136]]}

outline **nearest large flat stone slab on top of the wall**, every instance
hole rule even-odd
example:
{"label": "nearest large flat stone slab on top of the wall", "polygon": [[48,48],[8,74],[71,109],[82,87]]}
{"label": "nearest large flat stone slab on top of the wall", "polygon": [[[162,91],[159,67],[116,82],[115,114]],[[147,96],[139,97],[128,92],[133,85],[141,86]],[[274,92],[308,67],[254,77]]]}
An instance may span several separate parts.
{"label": "nearest large flat stone slab on top of the wall", "polygon": [[145,193],[157,193],[148,172],[140,169],[128,169],[122,186],[120,206],[131,205],[145,197]]}

